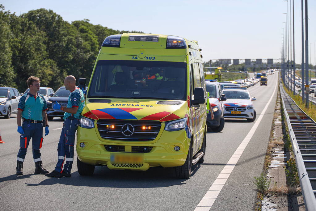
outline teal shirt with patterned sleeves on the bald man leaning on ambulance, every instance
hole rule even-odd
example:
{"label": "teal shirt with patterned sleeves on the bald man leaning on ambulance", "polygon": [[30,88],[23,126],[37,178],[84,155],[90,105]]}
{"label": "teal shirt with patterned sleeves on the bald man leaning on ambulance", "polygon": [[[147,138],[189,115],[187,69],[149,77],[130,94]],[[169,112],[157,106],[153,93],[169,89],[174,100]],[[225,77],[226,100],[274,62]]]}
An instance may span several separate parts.
{"label": "teal shirt with patterned sleeves on the bald man leaning on ambulance", "polygon": [[[67,108],[78,107],[77,112],[74,114],[74,117],[79,119],[80,114],[84,107],[84,95],[80,88],[76,87],[76,89],[72,90],[69,98]],[[72,114],[65,112],[64,119],[70,117]]]}

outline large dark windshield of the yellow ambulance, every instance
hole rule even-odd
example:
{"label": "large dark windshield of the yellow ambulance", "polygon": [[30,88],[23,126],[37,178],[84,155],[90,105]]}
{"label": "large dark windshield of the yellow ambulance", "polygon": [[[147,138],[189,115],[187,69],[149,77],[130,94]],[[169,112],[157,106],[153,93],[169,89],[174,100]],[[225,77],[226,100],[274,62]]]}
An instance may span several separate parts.
{"label": "large dark windshield of the yellow ambulance", "polygon": [[88,98],[185,100],[186,68],[181,62],[100,60]]}

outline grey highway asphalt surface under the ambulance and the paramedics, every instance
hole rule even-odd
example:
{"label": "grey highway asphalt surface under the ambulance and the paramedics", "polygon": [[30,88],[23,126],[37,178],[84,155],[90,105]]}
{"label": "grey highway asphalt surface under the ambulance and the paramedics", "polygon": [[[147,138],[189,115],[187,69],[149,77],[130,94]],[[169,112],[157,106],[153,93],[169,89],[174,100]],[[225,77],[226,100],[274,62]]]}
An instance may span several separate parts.
{"label": "grey highway asphalt surface under the ambulance and the paramedics", "polygon": [[[268,76],[268,86],[259,83],[248,90],[257,119],[269,101],[277,83],[277,72]],[[210,210],[252,210],[256,199],[255,176],[263,169],[270,136],[276,94],[234,170]],[[0,144],[1,210],[194,210],[228,160],[244,140],[254,123],[226,119],[220,133],[209,132],[205,161],[193,166],[190,179],[174,178],[174,169],[152,168],[146,172],[114,171],[96,167],[93,176],[80,176],[76,161],[71,178],[47,178],[34,174],[32,148],[24,162],[24,175],[16,176],[19,134],[16,115],[0,117],[4,144]],[[41,149],[43,166],[52,171],[57,162],[57,144],[62,120],[49,123],[50,133]],[[75,154],[76,160],[76,154]]]}

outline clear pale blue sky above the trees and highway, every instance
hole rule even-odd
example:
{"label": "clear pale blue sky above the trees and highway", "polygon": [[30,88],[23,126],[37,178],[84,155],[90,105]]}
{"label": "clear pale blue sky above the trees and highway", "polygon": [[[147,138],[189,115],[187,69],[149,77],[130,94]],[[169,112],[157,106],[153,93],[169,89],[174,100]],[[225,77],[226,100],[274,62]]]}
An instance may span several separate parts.
{"label": "clear pale blue sky above the trees and highway", "polygon": [[[285,22],[282,13],[287,12],[287,2],[283,0],[3,0],[2,4],[5,10],[17,15],[45,8],[52,9],[69,22],[89,19],[92,24],[117,30],[170,34],[198,40],[204,61],[280,58],[282,22]],[[295,61],[300,63],[301,0],[294,0],[294,5]],[[312,43],[313,64],[315,11],[316,1],[308,0],[308,39]]]}

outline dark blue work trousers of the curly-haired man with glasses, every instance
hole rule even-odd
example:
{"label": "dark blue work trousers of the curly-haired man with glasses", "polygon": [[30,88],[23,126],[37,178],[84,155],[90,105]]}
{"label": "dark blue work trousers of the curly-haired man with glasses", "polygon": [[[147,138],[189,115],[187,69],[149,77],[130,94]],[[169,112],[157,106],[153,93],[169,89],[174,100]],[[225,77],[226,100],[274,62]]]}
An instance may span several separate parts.
{"label": "dark blue work trousers of the curly-haired man with glasses", "polygon": [[41,161],[40,148],[43,143],[43,125],[42,123],[30,123],[24,121],[22,123],[24,134],[20,136],[20,150],[16,160],[24,162],[28,144],[32,138],[33,159],[34,162]]}

